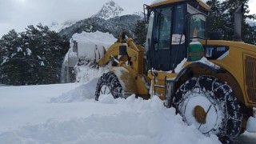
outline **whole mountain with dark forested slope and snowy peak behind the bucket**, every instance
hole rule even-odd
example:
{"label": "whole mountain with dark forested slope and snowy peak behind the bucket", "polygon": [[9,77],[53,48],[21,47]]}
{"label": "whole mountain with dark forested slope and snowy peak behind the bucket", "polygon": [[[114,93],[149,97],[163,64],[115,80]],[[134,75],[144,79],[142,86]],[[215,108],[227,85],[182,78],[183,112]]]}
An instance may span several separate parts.
{"label": "whole mountain with dark forested slope and snowy peak behind the bucket", "polygon": [[138,20],[142,20],[142,14],[136,13],[120,16],[122,11],[122,7],[118,6],[114,1],[107,2],[97,14],[62,29],[59,34],[71,38],[75,33],[82,33],[82,31],[95,32],[98,30],[104,33],[109,32],[114,37],[118,37],[120,31],[125,30],[127,34],[132,36]]}

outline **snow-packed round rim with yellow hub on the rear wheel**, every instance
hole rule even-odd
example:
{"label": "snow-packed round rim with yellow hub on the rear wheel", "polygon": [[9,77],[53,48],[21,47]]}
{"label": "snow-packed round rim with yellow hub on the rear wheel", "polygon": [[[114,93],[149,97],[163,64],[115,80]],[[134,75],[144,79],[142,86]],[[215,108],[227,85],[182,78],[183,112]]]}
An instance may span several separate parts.
{"label": "snow-packed round rim with yellow hub on the rear wheel", "polygon": [[[206,94],[198,94],[198,92],[190,93],[179,110],[181,111],[183,119],[189,125],[196,126],[202,134],[210,132],[210,130],[213,130],[219,123],[218,106],[214,105]],[[199,113],[199,115],[195,113]]]}

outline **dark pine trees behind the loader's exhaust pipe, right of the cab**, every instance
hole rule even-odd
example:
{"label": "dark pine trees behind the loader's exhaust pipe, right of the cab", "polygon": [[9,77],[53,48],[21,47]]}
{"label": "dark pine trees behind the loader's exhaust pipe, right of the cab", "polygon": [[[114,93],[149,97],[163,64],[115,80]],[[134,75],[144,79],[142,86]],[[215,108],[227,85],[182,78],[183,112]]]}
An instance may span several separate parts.
{"label": "dark pine trees behind the loader's exhaust pipe, right of the cab", "polygon": [[234,39],[234,12],[239,6],[244,4],[244,12],[242,16],[242,40],[246,43],[256,44],[255,42],[255,26],[246,23],[246,19],[255,19],[254,14],[249,14],[248,0],[225,0],[222,3],[218,0],[209,0],[206,2],[212,12],[208,26],[210,30],[222,31],[223,39],[232,41]]}

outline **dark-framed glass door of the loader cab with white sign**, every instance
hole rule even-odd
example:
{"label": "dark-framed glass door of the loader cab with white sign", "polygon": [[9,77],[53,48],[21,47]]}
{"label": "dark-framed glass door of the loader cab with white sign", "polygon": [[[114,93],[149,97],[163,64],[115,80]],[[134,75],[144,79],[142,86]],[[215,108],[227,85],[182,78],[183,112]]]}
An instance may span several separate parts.
{"label": "dark-framed glass door of the loader cab with white sign", "polygon": [[[156,8],[150,45],[150,67],[173,70],[186,57],[184,4]],[[181,37],[182,36],[182,37]],[[181,43],[180,38],[182,38]]]}

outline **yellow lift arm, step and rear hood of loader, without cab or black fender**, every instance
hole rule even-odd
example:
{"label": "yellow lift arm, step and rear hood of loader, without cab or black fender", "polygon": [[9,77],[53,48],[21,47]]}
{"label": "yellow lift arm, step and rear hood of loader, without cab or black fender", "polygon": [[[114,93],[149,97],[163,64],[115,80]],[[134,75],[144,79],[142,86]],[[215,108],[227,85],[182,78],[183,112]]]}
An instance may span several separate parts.
{"label": "yellow lift arm, step and rear hood of loader, without cab or black fender", "polygon": [[[202,45],[205,44],[206,42],[202,41]],[[122,76],[118,78],[126,85],[124,86],[126,94],[134,93],[147,99],[150,98],[150,90],[153,90],[160,98],[166,99],[165,80],[176,78],[178,73],[158,70],[146,71],[145,59],[143,57],[144,48],[142,48],[142,46],[136,46],[131,38],[128,38],[127,44],[125,44],[125,46],[127,46],[127,54],[132,63],[128,65],[125,56],[117,58],[119,46],[123,45],[124,44],[121,42],[116,42],[114,45],[110,46],[110,49],[107,50],[103,58],[98,61],[98,65],[103,66],[110,61],[118,62],[118,67],[122,67],[123,69],[113,67],[111,70],[115,73],[121,71]],[[225,73],[214,74],[211,70],[203,70],[203,68],[199,69],[198,67],[194,69],[191,67],[190,70],[193,71],[194,75],[213,75],[223,82],[227,82],[233,87],[234,93],[240,102],[244,103],[246,106],[256,107],[256,46],[244,42],[212,40],[208,40],[207,45],[230,47],[229,54],[227,54],[225,58],[221,60],[210,60],[210,62],[213,62],[225,70]],[[190,65],[190,63],[193,62],[185,62],[183,67]],[[157,76],[154,76],[154,74],[157,74]],[[146,84],[150,86],[157,85],[159,87],[147,88]]]}

